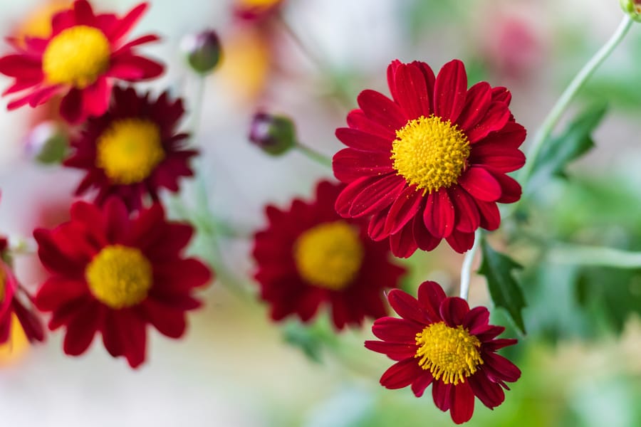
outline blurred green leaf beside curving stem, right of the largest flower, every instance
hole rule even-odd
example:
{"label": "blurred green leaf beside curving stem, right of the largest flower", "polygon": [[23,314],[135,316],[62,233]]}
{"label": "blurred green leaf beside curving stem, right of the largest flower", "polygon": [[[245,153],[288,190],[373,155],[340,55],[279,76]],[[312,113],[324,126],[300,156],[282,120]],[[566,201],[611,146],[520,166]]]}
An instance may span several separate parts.
{"label": "blurred green leaf beside curving stem, right of the largest flower", "polygon": [[593,105],[575,117],[561,135],[550,137],[543,143],[541,154],[533,167],[532,179],[528,185],[530,189],[538,188],[543,181],[553,176],[565,177],[567,165],[594,147],[592,132],[607,109],[605,104]]}

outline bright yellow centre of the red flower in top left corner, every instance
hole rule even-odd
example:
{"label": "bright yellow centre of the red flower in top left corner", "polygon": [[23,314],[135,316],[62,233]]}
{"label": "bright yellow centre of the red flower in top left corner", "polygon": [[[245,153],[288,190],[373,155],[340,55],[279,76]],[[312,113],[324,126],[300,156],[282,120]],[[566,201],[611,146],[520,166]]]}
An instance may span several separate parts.
{"label": "bright yellow centre of the red flower in top left corner", "polygon": [[102,31],[77,25],[51,39],[42,56],[42,69],[49,83],[83,89],[108,69],[110,57],[111,46]]}

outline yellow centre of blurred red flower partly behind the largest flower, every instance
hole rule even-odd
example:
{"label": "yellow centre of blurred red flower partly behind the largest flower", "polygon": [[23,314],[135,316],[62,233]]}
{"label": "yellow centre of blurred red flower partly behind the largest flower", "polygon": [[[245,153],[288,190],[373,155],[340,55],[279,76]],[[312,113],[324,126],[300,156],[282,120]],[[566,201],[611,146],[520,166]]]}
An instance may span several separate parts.
{"label": "yellow centre of blurred red flower partly behind the largest flower", "polygon": [[363,243],[358,230],[345,221],[322,223],[298,237],[293,246],[296,268],[312,285],[342,290],[363,263]]}

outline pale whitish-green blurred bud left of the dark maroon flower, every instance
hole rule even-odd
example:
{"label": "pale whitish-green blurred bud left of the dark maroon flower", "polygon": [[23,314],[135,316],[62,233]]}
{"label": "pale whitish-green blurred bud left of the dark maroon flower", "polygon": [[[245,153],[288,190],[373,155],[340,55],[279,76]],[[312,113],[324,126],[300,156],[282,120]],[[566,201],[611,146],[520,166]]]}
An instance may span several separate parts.
{"label": "pale whitish-green blurred bud left of the dark maroon flower", "polygon": [[41,122],[26,137],[29,158],[43,164],[58,164],[67,155],[69,142],[61,125],[53,121]]}

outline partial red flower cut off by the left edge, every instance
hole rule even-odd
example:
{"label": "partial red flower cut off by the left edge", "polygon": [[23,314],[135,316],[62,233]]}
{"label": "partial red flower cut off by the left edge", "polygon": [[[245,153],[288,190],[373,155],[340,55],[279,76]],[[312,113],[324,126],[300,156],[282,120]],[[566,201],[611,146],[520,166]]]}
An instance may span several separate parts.
{"label": "partial red flower cut off by the left edge", "polygon": [[20,301],[29,299],[29,295],[21,287],[13,270],[6,263],[6,238],[0,238],[0,344],[11,338],[11,322],[14,315],[20,322],[29,342],[43,341],[44,330],[40,318]]}

